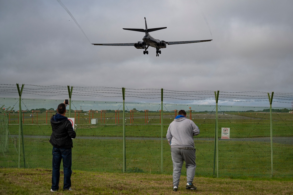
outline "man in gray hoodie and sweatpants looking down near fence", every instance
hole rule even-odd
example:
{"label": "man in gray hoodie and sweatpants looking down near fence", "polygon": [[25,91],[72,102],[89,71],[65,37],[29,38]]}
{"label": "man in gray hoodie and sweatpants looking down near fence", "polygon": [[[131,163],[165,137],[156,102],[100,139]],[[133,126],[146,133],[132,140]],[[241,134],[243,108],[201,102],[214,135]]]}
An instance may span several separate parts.
{"label": "man in gray hoodie and sweatpants looking down near fence", "polygon": [[200,130],[192,120],[186,118],[184,110],[180,110],[178,116],[169,125],[166,138],[171,146],[173,161],[173,191],[178,190],[183,161],[186,165],[186,189],[197,189],[193,185],[196,167],[193,136],[198,134]]}

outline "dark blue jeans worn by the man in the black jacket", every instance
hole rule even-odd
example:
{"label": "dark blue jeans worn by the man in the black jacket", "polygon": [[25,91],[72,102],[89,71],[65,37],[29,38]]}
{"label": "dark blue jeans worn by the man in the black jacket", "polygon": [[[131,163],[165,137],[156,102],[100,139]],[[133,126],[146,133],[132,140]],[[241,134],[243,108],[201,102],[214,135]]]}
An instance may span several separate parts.
{"label": "dark blue jeans worn by the man in the black jacket", "polygon": [[52,190],[59,189],[60,164],[63,159],[64,184],[63,190],[71,187],[71,148],[56,148],[52,150]]}

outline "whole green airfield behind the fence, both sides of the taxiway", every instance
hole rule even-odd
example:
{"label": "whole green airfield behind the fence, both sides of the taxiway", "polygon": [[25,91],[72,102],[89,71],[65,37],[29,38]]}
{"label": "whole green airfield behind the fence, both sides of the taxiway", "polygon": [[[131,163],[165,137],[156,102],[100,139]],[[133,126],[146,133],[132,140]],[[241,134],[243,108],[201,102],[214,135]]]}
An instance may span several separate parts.
{"label": "whole green airfield behind the fence, both sides of the taxiway", "polygon": [[[172,114],[163,116],[163,143],[161,143],[158,113],[148,113],[147,118],[144,114],[134,113],[131,122],[132,116],[129,113],[125,116],[126,172],[171,174],[170,147],[165,137],[168,125],[173,121],[174,116]],[[192,120],[200,128],[200,135],[195,137],[197,176],[212,177],[215,174],[214,117],[214,114],[209,113],[192,113]],[[6,147],[3,141],[5,136],[2,136],[5,132],[1,131],[1,168],[18,167],[18,151],[21,149],[21,167],[50,169],[52,145],[48,141],[51,135],[49,118],[46,113],[39,113],[38,117],[33,118],[29,115],[24,116],[22,125],[24,139],[23,142],[21,140],[19,148],[17,115],[10,116]],[[91,121],[88,115],[80,115],[79,120],[76,119],[77,138],[74,140],[73,169],[121,173],[123,167],[121,115],[119,124],[117,116],[115,119],[115,113],[107,113],[102,120],[100,114],[96,113],[91,118],[98,118],[98,124],[89,124]],[[292,114],[273,113],[272,118],[274,137],[293,137]],[[146,121],[148,123],[145,123]],[[219,140],[220,177],[271,177],[271,145],[268,142],[253,140],[270,137],[269,113],[225,113],[219,115],[218,127],[218,138],[221,137],[221,127],[229,127],[230,138],[238,139]],[[292,144],[284,141],[284,143],[273,143],[272,147],[273,177],[292,177],[290,171],[293,170]],[[183,174],[185,171],[184,168]]]}

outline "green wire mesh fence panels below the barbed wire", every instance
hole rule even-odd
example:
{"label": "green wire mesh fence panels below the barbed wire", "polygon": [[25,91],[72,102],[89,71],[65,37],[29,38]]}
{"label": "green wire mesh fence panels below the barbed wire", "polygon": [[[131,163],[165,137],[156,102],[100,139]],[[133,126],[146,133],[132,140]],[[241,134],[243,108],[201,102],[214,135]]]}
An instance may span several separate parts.
{"label": "green wire mesh fence panels below the barbed wire", "polygon": [[[71,99],[66,116],[74,119],[76,131],[72,169],[171,174],[166,133],[184,109],[200,128],[194,138],[197,176],[293,176],[291,108],[161,100]],[[4,97],[0,101],[0,167],[51,169],[50,118],[64,100]]]}

